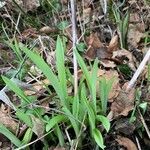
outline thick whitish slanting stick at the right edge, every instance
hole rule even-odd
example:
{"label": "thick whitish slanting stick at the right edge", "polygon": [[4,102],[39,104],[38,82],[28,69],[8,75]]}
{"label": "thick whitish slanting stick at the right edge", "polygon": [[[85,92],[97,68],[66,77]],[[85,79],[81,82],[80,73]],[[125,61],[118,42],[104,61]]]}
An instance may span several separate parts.
{"label": "thick whitish slanting stick at the right edge", "polygon": [[140,63],[138,69],[136,70],[136,72],[134,73],[132,79],[130,80],[130,82],[127,86],[127,90],[129,90],[133,87],[133,85],[135,84],[137,78],[139,77],[140,73],[143,71],[146,63],[148,62],[149,58],[150,58],[150,49],[147,51],[144,59],[142,60],[142,62]]}

